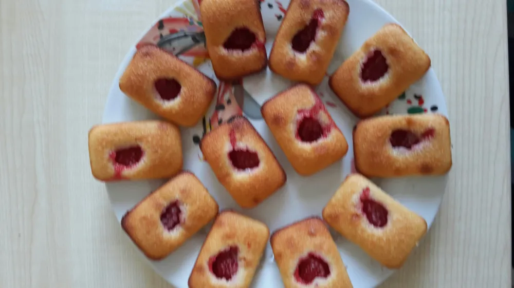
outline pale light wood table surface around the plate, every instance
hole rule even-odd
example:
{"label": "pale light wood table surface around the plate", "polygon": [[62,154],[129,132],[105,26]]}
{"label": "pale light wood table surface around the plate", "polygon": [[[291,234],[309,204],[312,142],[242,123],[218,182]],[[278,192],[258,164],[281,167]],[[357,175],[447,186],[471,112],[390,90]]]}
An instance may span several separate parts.
{"label": "pale light wood table surface around the plate", "polygon": [[[91,177],[128,50],[173,0],[0,0],[0,287],[171,287]],[[505,0],[380,0],[432,58],[453,169],[432,229],[383,287],[510,287]]]}

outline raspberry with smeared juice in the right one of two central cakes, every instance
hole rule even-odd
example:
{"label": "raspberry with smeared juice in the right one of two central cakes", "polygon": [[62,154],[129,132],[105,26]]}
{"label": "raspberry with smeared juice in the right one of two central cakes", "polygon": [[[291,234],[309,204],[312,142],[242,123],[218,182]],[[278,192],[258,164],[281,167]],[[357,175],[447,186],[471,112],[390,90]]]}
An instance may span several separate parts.
{"label": "raspberry with smeared juice in the right one of two central cakes", "polygon": [[319,120],[320,114],[327,114],[327,112],[321,99],[316,96],[314,99],[313,107],[298,110],[296,138],[302,142],[310,143],[327,137],[334,127],[333,121],[321,124]]}

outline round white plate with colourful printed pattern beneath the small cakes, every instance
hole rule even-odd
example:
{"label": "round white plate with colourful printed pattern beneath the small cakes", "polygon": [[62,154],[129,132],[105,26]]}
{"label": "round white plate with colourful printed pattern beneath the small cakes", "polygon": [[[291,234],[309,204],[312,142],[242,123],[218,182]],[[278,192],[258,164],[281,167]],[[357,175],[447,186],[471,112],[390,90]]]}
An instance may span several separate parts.
{"label": "round white plate with colourful printed pattern beneath the small cakes", "polygon": [[[347,2],[350,4],[350,16],[332,65],[328,69],[328,74],[333,73],[345,58],[358,49],[364,40],[373,35],[380,27],[389,22],[396,22],[391,15],[369,0],[347,0]],[[351,132],[357,118],[344,107],[337,96],[328,88],[327,78],[325,78],[316,90],[346,137],[350,149],[340,162],[307,178],[300,177],[292,169],[284,153],[268,131],[264,120],[250,119],[284,167],[287,173],[287,183],[258,207],[251,210],[242,210],[216,180],[208,164],[201,160],[202,156],[197,143],[205,132],[217,126],[218,121],[226,121],[233,115],[241,114],[241,106],[245,115],[258,115],[260,105],[266,99],[286,89],[291,83],[278,75],[274,75],[269,69],[261,74],[244,78],[242,81],[244,89],[241,89],[241,86],[236,86],[234,89],[230,84],[219,83],[214,77],[210,61],[205,59],[207,55],[203,45],[205,36],[202,33],[203,28],[197,16],[197,0],[186,0],[185,2],[179,2],[177,5],[163,14],[161,19],[143,36],[138,45],[144,43],[158,44],[172,53],[179,54],[182,59],[193,64],[218,83],[217,99],[213,101],[204,119],[195,128],[181,130],[184,169],[190,170],[198,176],[217,200],[220,209],[233,208],[264,221],[271,232],[308,216],[320,215],[322,208],[332,197],[342,180],[352,171]],[[268,55],[287,5],[287,0],[284,2],[263,0],[261,2],[261,11],[268,39],[266,43]],[[118,87],[119,77],[134,55],[136,47],[133,47],[127,53],[113,80],[103,115],[104,123],[157,118],[157,116],[126,97]],[[225,109],[216,110],[215,107],[219,105],[224,105]],[[384,109],[382,113],[412,114],[434,111],[447,115],[442,90],[433,70],[430,69],[422,79],[411,86],[404,94],[399,95],[399,98]],[[374,180],[395,199],[424,217],[430,227],[443,197],[446,177]],[[130,210],[138,201],[158,188],[164,181],[108,183],[107,191],[118,220],[127,210]],[[209,228],[206,227],[201,230],[166,259],[158,262],[150,261],[150,264],[162,277],[177,288],[187,287],[189,274]],[[356,245],[337,233],[332,233],[332,235],[347,266],[354,287],[368,288],[376,286],[393,273],[392,270],[383,268]],[[253,287],[283,287],[269,244],[263,256],[262,264],[255,274]]]}

